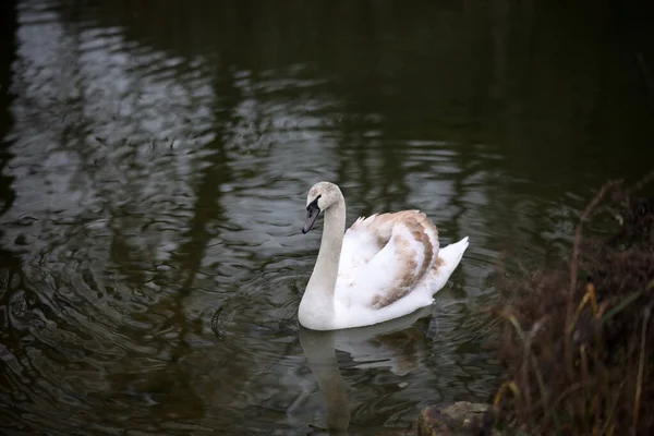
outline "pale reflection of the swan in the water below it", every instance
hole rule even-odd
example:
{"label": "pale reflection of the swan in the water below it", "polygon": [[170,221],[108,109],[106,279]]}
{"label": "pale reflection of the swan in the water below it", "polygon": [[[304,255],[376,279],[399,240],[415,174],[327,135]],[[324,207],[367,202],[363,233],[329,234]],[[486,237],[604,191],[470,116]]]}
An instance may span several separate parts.
{"label": "pale reflection of the swan in the water below it", "polygon": [[[410,315],[368,327],[316,331],[300,326],[300,344],[306,355],[308,366],[318,383],[318,388],[325,399],[327,408],[326,427],[330,435],[347,435],[350,425],[350,404],[348,386],[343,379],[336,350],[350,354],[359,370],[373,367],[388,367],[397,375],[405,375],[419,366],[420,350],[413,352],[399,350],[405,344],[407,337],[398,344],[398,334],[410,329],[415,322],[432,314],[432,307],[423,307]],[[410,330],[407,334],[417,330]]]}

